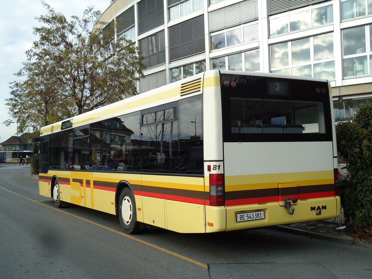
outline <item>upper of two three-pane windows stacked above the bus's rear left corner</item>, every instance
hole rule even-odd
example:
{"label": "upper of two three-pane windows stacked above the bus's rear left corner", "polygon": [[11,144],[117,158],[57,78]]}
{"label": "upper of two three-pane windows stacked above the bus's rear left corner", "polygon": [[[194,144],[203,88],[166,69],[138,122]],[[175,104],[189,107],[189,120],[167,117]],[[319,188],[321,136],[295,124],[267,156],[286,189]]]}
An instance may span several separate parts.
{"label": "upper of two three-pane windows stacked above the bus's rear left corner", "polygon": [[259,39],[258,23],[239,26],[211,33],[211,50],[256,41]]}

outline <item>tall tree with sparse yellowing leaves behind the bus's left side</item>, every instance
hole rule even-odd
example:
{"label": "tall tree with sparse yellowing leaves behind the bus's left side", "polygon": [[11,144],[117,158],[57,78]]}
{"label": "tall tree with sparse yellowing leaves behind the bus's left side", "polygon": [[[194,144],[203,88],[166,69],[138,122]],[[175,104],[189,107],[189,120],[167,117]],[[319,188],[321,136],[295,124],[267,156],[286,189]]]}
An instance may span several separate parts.
{"label": "tall tree with sparse yellowing leaves behind the bus's left side", "polygon": [[[10,83],[11,97],[6,99],[11,118],[20,123],[18,132],[27,122],[48,125],[137,94],[135,81],[143,77],[145,66],[132,41],[125,36],[115,40],[115,25],[103,28],[105,22],[95,22],[99,11],[93,7],[81,19],[68,21],[41,3],[48,13],[37,17],[41,27],[33,33],[38,40],[15,74],[25,80]],[[28,120],[23,124],[23,119]]]}

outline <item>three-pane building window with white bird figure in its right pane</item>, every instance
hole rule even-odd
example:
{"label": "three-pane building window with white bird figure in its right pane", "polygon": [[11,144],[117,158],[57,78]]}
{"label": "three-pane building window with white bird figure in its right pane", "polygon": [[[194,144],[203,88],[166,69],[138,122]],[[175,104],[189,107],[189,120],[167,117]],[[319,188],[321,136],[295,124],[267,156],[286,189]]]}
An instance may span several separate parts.
{"label": "three-pane building window with white bird figure in its right pane", "polygon": [[333,22],[333,5],[323,3],[269,17],[270,36],[299,31]]}

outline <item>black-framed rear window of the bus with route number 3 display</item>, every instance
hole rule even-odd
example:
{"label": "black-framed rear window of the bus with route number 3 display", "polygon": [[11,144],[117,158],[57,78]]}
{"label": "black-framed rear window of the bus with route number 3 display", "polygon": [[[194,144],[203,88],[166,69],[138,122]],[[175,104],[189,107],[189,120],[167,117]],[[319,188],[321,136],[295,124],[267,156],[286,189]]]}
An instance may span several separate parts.
{"label": "black-framed rear window of the bus with route number 3 display", "polygon": [[327,83],[221,75],[224,141],[331,140],[330,97],[319,87]]}

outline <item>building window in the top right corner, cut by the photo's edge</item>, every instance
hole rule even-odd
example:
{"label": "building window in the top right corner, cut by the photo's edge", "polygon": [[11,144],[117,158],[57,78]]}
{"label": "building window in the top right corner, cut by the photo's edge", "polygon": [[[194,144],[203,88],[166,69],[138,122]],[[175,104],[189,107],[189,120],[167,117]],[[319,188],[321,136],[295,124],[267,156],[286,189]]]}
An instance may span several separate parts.
{"label": "building window in the top right corner, cut by the photo's edge", "polygon": [[371,0],[341,0],[341,20],[372,14]]}

